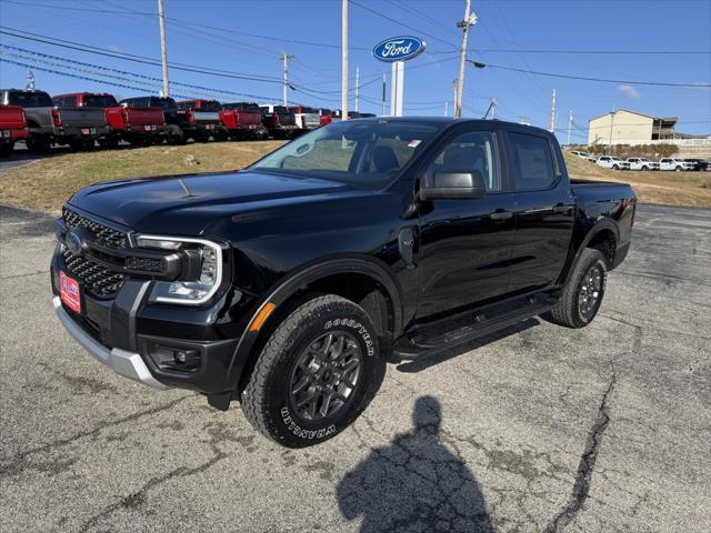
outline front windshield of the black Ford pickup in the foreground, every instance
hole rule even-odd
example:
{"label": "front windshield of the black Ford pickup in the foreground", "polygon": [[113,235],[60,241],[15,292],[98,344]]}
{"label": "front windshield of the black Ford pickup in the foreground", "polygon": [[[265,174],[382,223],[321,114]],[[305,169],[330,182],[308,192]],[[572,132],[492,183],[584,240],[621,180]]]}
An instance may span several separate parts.
{"label": "front windshield of the black Ford pickup in the foreground", "polygon": [[251,169],[380,188],[395,178],[438,130],[412,122],[338,122],[299,137]]}

